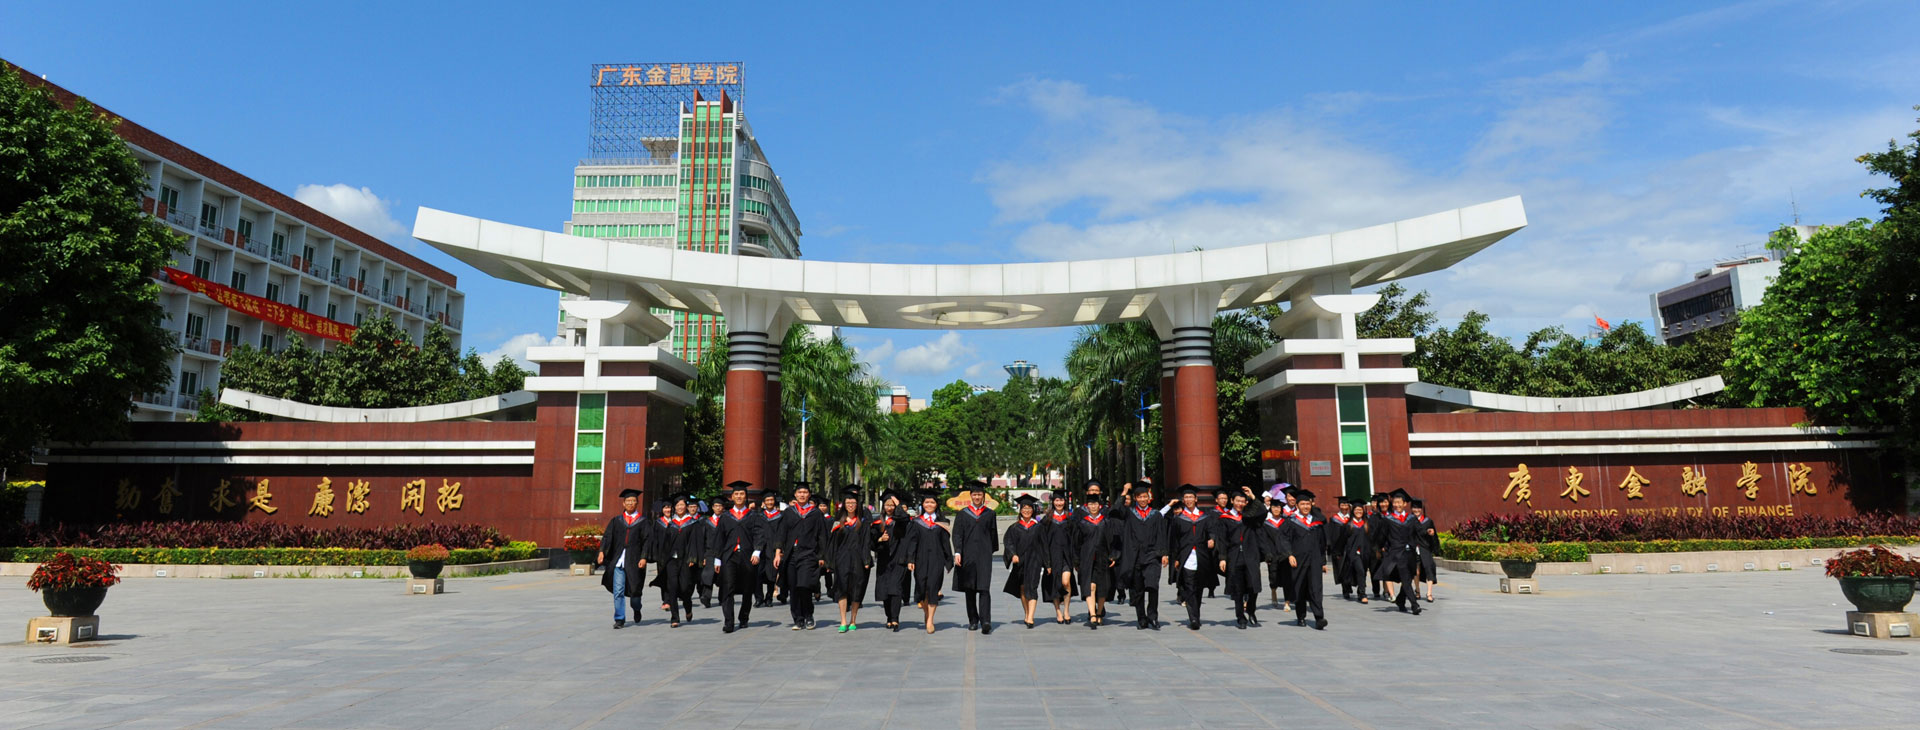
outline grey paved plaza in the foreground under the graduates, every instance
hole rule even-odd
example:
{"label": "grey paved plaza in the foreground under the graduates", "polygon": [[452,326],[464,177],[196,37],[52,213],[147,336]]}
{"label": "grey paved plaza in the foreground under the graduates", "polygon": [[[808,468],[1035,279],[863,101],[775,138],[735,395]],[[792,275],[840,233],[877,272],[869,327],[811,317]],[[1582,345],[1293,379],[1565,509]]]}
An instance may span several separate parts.
{"label": "grey paved plaza in the foreground under the graduates", "polygon": [[[1920,644],[1845,636],[1816,571],[1549,576],[1542,596],[1444,578],[1423,617],[1334,601],[1325,632],[1279,611],[1236,630],[1223,599],[1200,632],[1027,630],[995,594],[993,636],[956,626],[954,597],[933,636],[885,632],[877,607],[835,634],[826,603],[812,632],[785,607],[735,634],[718,609],[616,632],[599,578],[561,571],[432,597],[144,578],[111,590],[102,642],[0,649],[0,728],[1908,728],[1920,711]],[[8,630],[40,613],[0,578]]]}

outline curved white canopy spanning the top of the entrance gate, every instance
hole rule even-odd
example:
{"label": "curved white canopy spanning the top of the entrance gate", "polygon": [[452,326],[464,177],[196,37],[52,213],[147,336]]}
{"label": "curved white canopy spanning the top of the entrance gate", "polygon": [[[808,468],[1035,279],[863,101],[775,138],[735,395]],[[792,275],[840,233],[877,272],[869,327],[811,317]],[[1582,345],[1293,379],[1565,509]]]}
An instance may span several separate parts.
{"label": "curved white canopy spanning the top of the entrance gate", "polygon": [[[413,236],[505,280],[724,313],[776,298],[808,325],[885,328],[1071,327],[1140,319],[1156,298],[1206,292],[1215,309],[1446,269],[1526,227],[1521,198],[1334,234],[1190,254],[1046,263],[852,263],[682,252],[484,221],[420,207]],[[1338,294],[1338,292],[1315,292]]]}

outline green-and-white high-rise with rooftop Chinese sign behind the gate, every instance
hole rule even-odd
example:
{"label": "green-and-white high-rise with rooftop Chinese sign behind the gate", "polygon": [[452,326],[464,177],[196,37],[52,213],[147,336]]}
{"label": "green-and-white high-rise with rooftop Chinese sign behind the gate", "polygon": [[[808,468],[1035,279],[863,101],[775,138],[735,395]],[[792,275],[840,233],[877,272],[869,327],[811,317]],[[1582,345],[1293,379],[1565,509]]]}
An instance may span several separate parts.
{"label": "green-and-white high-rise with rooftop Chinese sign behind the gate", "polygon": [[[574,167],[566,232],[689,252],[793,259],[801,221],[741,106],[741,63],[599,63],[591,158]],[[616,296],[616,294],[612,294]],[[563,298],[582,298],[563,294]],[[674,325],[660,344],[697,363],[722,342],[716,313],[657,309]],[[561,313],[559,334],[586,323]]]}

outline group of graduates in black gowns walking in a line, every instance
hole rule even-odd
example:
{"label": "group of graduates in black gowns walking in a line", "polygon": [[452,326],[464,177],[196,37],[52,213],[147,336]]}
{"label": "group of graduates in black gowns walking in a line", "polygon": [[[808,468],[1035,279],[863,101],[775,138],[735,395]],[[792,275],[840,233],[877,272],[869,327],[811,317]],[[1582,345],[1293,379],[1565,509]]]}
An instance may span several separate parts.
{"label": "group of graduates in black gowns walking in a line", "polygon": [[1404,490],[1377,494],[1371,503],[1340,498],[1332,517],[1304,488],[1213,492],[1213,503],[1202,505],[1200,490],[1183,484],[1177,499],[1156,509],[1152,484],[1129,484],[1127,503],[1110,509],[1104,488],[1089,482],[1081,505],[1069,505],[1066,490],[1046,507],[1018,498],[1018,515],[1002,532],[985,482],[968,484],[966,505],[950,517],[933,490],[887,490],[879,507],[866,507],[854,486],[826,503],[799,484],[783,505],[774,490],[732,482],[728,503],[708,515],[693,498],[674,496],[649,519],[637,511],[639,492],[626,490],[622,515],[601,536],[601,584],[614,594],[614,628],[626,626],[628,605],[639,620],[649,563],[670,626],[691,620],[695,596],[712,607],[718,586],[724,632],[772,603],[787,603],[793,630],[814,628],[818,596],[837,603],[839,632],[858,630],[872,586],[889,630],[900,630],[900,609],[912,601],[931,634],[950,572],[968,630],[993,634],[995,553],[1006,569],[998,590],[1020,599],[1027,628],[1041,601],[1052,603],[1056,622],[1071,624],[1079,597],[1089,628],[1106,624],[1106,603],[1123,601],[1135,609],[1135,628],[1160,630],[1162,574],[1177,586],[1190,630],[1200,628],[1202,594],[1213,590],[1233,601],[1238,628],[1260,626],[1261,576],[1275,601],[1284,594],[1283,607],[1298,626],[1308,626],[1311,613],[1311,626],[1327,628],[1323,574],[1359,603],[1371,588],[1373,597],[1419,615],[1421,582],[1432,601],[1436,530]]}

